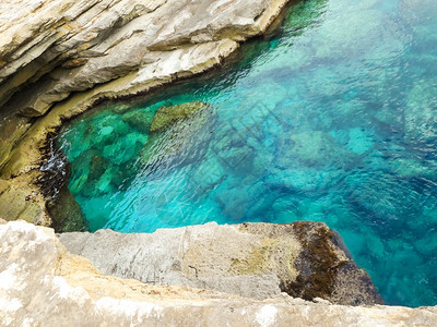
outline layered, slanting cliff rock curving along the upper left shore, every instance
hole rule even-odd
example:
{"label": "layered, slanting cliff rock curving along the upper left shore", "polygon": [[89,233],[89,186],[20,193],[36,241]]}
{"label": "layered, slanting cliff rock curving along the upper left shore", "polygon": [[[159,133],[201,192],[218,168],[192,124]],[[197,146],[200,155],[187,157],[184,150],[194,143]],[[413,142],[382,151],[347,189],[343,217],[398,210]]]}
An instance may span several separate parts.
{"label": "layered, slanting cliff rock curving along the upper left shore", "polygon": [[0,202],[20,202],[2,218],[51,222],[37,181],[47,138],[62,121],[218,65],[239,41],[265,32],[286,2],[1,1],[0,182],[8,191]]}

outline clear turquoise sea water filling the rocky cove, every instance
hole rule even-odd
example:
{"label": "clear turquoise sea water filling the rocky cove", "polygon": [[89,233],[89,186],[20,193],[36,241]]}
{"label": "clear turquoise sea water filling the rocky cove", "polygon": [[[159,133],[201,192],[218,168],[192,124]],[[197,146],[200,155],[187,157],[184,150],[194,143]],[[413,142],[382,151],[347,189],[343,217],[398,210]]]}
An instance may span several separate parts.
{"label": "clear turquoise sea water filling the rocky cove", "polygon": [[[324,221],[388,304],[437,304],[437,1],[300,2],[243,52],[62,131],[91,230]],[[156,110],[194,100],[145,160]]]}

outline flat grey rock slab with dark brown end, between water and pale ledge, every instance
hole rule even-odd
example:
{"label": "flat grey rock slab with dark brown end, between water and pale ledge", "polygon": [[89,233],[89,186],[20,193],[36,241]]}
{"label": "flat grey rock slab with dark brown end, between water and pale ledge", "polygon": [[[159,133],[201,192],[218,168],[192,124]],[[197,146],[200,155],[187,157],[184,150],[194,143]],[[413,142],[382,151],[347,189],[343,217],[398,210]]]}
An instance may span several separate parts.
{"label": "flat grey rock slab with dark brown end, between water and pale ledge", "polygon": [[150,284],[190,286],[264,300],[286,292],[357,305],[382,303],[370,277],[322,222],[210,222],[153,234],[62,233],[101,271]]}

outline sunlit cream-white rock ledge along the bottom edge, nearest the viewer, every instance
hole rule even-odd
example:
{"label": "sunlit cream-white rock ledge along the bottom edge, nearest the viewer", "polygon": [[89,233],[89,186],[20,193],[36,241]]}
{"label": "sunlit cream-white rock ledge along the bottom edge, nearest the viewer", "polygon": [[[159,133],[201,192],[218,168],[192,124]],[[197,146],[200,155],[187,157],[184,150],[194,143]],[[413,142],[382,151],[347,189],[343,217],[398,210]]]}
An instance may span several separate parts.
{"label": "sunlit cream-white rock ledge along the bottom edge, nearest the viewer", "polygon": [[0,220],[2,326],[436,326],[437,307],[257,301],[103,276],[54,230]]}

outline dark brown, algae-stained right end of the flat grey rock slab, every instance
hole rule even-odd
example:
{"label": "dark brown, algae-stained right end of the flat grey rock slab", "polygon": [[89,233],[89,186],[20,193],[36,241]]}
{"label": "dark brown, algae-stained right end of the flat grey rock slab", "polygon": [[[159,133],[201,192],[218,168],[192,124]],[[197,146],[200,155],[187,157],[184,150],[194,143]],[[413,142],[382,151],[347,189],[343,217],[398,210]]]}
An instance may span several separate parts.
{"label": "dark brown, algae-stained right end of the flat grey rock slab", "polygon": [[324,223],[292,226],[302,244],[296,258],[299,275],[295,281],[283,282],[284,291],[295,298],[321,298],[346,305],[382,303],[371,279],[353,262],[339,234]]}

